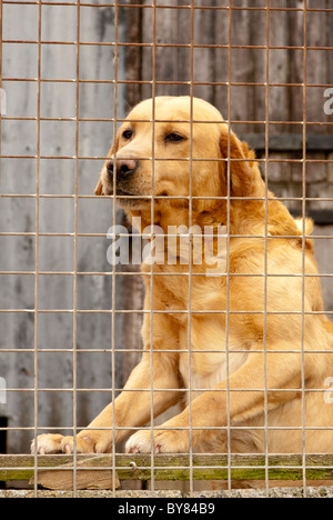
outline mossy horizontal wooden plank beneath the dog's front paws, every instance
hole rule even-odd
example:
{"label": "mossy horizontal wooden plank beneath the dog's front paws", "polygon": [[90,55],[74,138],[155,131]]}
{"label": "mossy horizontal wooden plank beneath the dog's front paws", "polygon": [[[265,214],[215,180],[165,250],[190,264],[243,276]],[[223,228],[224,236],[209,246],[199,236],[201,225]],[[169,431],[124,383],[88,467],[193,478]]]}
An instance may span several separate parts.
{"label": "mossy horizontal wooden plank beneath the dog's front paws", "polygon": [[[38,482],[51,489],[73,488],[72,456],[39,456]],[[226,480],[229,458],[226,454],[157,454],[153,473],[158,480]],[[264,480],[265,457],[261,454],[231,456],[233,480]],[[113,456],[78,456],[78,489],[112,489]],[[151,454],[117,454],[115,470],[119,480],[150,480]],[[302,480],[303,457],[269,456],[270,480]],[[307,454],[305,474],[309,480],[333,480],[333,456]],[[0,480],[29,480],[34,476],[33,456],[0,456]]]}

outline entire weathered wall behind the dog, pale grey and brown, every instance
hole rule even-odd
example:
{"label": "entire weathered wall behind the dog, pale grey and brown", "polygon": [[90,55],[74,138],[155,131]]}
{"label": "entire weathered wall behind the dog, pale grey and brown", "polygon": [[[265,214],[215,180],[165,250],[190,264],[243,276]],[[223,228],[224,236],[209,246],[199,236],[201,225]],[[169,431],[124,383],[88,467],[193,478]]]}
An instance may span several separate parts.
{"label": "entire weathered wall behind the dog, pale grey and brown", "polygon": [[[97,1],[98,6],[101,3]],[[230,39],[228,10],[200,10],[194,12],[193,61],[189,47],[157,47],[155,70],[152,70],[151,43],[153,41],[153,10],[150,8],[130,9],[135,1],[124,1],[128,7],[119,8],[118,37],[120,42],[148,43],[148,47],[118,48],[118,79],[143,83],[118,84],[118,117],[122,118],[129,107],[140,99],[151,97],[151,81],[185,82],[186,84],[157,84],[157,94],[188,94],[189,81],[195,84],[193,92],[213,102],[234,121],[234,130],[242,136],[263,134],[266,112],[266,50],[231,50],[229,71],[229,49],[203,46],[228,46]],[[142,4],[151,3],[143,0]],[[158,4],[170,4],[170,0],[159,0]],[[178,0],[178,6],[189,4]],[[271,7],[281,7],[281,0],[271,0]],[[302,0],[282,2],[286,7],[302,9]],[[196,0],[195,7],[224,7],[226,0]],[[235,0],[234,7],[265,7],[265,0]],[[327,8],[330,0],[309,0],[312,8]],[[2,88],[7,92],[7,118],[1,122],[1,193],[34,194],[37,190],[37,160],[6,158],[6,156],[36,156],[38,150],[38,122],[36,120],[13,120],[11,118],[37,118],[38,82],[9,81],[8,79],[38,78],[37,43],[9,43],[9,40],[37,40],[38,6],[6,3],[3,10],[2,38]],[[114,88],[103,82],[114,79],[114,48],[105,43],[114,41],[114,9],[108,7],[80,8],[80,40],[103,43],[103,46],[80,46],[80,79],[91,82],[80,83],[80,118],[92,119],[79,124],[80,157],[102,157],[112,140],[113,123],[97,121],[113,117]],[[332,13],[307,13],[307,46],[333,47]],[[266,12],[233,11],[231,24],[232,46],[266,46]],[[77,8],[73,6],[42,6],[42,40],[69,41],[77,39]],[[157,9],[155,43],[184,44],[191,42],[191,11]],[[272,11],[270,16],[270,44],[275,47],[302,47],[303,13],[301,11]],[[333,58],[329,50],[309,50],[306,81],[311,84],[332,84]],[[303,50],[274,49],[270,51],[269,79],[272,83],[293,83],[297,87],[270,87],[270,121],[297,122],[299,124],[271,124],[270,134],[301,134],[303,131]],[[191,69],[193,73],[191,73]],[[41,77],[43,79],[74,80],[77,77],[77,46],[41,46]],[[231,104],[228,104],[231,79]],[[148,82],[148,83],[144,83]],[[204,84],[212,83],[212,84]],[[246,84],[244,84],[246,83]],[[260,83],[260,84],[253,84]],[[40,151],[54,159],[40,161],[40,192],[42,194],[74,193],[75,161],[61,159],[75,154],[75,81],[41,82],[40,110],[43,118],[65,118],[68,121],[41,121]],[[307,126],[311,134],[332,134],[332,116],[326,116],[324,87],[307,88],[306,119],[310,122],[331,123]],[[251,123],[248,123],[251,121]],[[332,159],[330,149],[311,151],[307,158]],[[262,151],[260,152],[262,157]],[[271,158],[302,159],[299,150],[270,150]],[[79,161],[79,194],[91,194],[98,179],[101,160]],[[333,198],[332,164],[306,166],[306,196]],[[301,163],[270,163],[268,176],[270,187],[281,197],[302,196]],[[291,206],[300,210],[301,202]],[[306,202],[306,209],[332,210],[332,200]],[[122,221],[118,212],[119,222]],[[112,204],[109,200],[80,199],[78,204],[78,230],[82,233],[107,233],[112,223]],[[333,236],[333,224],[316,227],[316,234]],[[36,221],[34,198],[1,198],[0,233],[40,232],[73,233],[73,198],[40,199],[40,218]],[[331,273],[332,240],[317,240],[321,271]],[[73,237],[41,237],[39,243],[40,271],[68,271],[74,269]],[[107,262],[107,238],[78,239],[78,270],[80,272],[102,272],[111,270]],[[36,239],[33,236],[6,237],[0,234],[0,271],[34,271]],[[134,268],[128,268],[133,271]],[[124,270],[124,269],[123,269]],[[38,423],[49,427],[71,427],[73,421],[74,374],[79,388],[104,388],[109,392],[78,392],[78,424],[84,426],[110,400],[111,397],[111,337],[115,347],[139,349],[140,323],[142,316],[117,314],[115,331],[111,328],[108,313],[81,314],[77,318],[77,367],[73,364],[73,316],[65,312],[73,308],[73,277],[71,274],[39,276],[39,309],[57,309],[53,313],[38,316],[38,348],[54,349],[59,352],[38,353],[38,374],[33,349],[36,330],[33,312],[0,312],[0,377],[7,379],[8,388],[33,389],[58,388],[59,392],[39,392]],[[0,274],[0,309],[34,309],[34,274]],[[323,279],[325,306],[333,310],[332,278]],[[78,309],[110,310],[112,280],[110,277],[78,277]],[[117,308],[140,310],[142,283],[139,276],[120,277],[117,284]],[[64,311],[64,312],[61,312]],[[12,349],[12,352],[9,350]],[[68,350],[62,352],[61,349]],[[84,349],[101,349],[105,352],[83,352]],[[20,351],[22,350],[22,351]],[[82,351],[82,352],[81,352]],[[131,367],[140,354],[135,352],[115,356],[115,386],[123,384]],[[69,391],[63,391],[68,389]],[[2,412],[2,413],[1,413]],[[33,392],[8,392],[8,403],[0,404],[0,416],[8,417],[11,428],[33,427]],[[7,450],[27,451],[31,432],[9,431]]]}

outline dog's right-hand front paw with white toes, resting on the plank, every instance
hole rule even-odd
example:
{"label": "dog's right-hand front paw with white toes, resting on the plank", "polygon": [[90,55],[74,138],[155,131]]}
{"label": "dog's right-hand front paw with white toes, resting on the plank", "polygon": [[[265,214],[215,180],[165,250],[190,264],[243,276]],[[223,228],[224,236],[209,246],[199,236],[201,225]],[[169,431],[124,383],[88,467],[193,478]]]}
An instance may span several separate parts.
{"label": "dog's right-hand front paw with white toes, resting on the plank", "polygon": [[189,431],[149,430],[134,433],[127,442],[127,453],[186,453],[190,450]]}

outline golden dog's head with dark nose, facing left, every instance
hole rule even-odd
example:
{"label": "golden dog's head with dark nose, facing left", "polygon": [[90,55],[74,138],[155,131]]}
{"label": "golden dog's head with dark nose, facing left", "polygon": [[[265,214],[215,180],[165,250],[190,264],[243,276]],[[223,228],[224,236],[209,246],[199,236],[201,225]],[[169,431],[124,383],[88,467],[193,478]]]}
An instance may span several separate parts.
{"label": "golden dog's head with dark nose, facing left", "polygon": [[129,113],[95,194],[114,194],[119,206],[129,211],[150,208],[152,196],[160,198],[154,202],[158,207],[183,208],[192,196],[194,211],[210,211],[221,203],[214,198],[252,194],[253,160],[246,144],[206,101],[158,97],[142,101]]}

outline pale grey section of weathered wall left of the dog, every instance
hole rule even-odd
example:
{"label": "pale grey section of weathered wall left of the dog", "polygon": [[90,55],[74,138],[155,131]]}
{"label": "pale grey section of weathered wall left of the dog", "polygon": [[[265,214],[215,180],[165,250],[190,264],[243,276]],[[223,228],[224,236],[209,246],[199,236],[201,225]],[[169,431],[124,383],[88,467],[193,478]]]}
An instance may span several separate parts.
{"label": "pale grey section of weathered wall left of the dog", "polygon": [[[114,10],[108,8],[81,9],[81,41],[111,43],[114,41]],[[24,4],[3,6],[3,40],[36,40],[38,37],[38,7]],[[125,32],[123,19],[119,20],[119,38]],[[72,6],[42,7],[42,40],[75,41],[77,9]],[[80,118],[113,117],[113,84],[103,83],[114,79],[114,49],[111,46],[80,47]],[[118,60],[119,76],[124,77],[124,57]],[[1,198],[0,231],[41,233],[74,232],[75,160],[61,159],[75,154],[77,114],[77,46],[41,46],[41,78],[73,80],[70,82],[40,83],[40,114],[42,118],[64,118],[68,121],[41,121],[40,153],[54,159],[40,161],[40,193],[70,196],[70,198],[41,198],[39,222],[36,218],[34,198]],[[36,118],[38,113],[38,82],[7,81],[6,78],[38,78],[38,47],[36,43],[2,44],[2,87],[7,92],[7,118],[1,124],[2,156],[36,156],[38,149],[38,123],[17,121],[11,118]],[[125,113],[125,94],[118,87],[118,117]],[[93,194],[102,160],[84,158],[103,157],[112,142],[111,121],[79,124],[78,192]],[[1,159],[1,193],[34,194],[37,192],[38,162],[36,159]],[[122,221],[121,212],[118,219]],[[78,232],[105,233],[112,224],[112,202],[109,200],[79,199]],[[8,389],[59,389],[58,392],[39,392],[38,424],[40,427],[71,427],[73,424],[73,388],[110,389],[109,392],[78,392],[78,424],[84,426],[111,399],[111,316],[107,313],[77,316],[77,366],[73,363],[73,276],[72,272],[111,271],[107,261],[107,238],[78,238],[78,262],[74,266],[74,239],[67,237],[40,237],[39,271],[58,272],[38,277],[38,308],[58,310],[38,314],[0,312],[0,376],[6,378]],[[36,239],[33,236],[0,236],[0,271],[31,271],[32,274],[0,274],[0,309],[30,309],[36,304],[34,268]],[[79,310],[111,308],[112,281],[110,277],[79,276],[77,301]],[[124,307],[122,290],[117,293],[117,307]],[[61,312],[63,311],[63,312]],[[114,337],[121,344],[122,317],[118,317]],[[39,352],[34,366],[34,340]],[[119,341],[120,340],[120,341]],[[3,351],[6,349],[6,351]],[[10,350],[12,349],[12,352]],[[30,352],[20,351],[30,349]],[[100,349],[105,352],[83,352]],[[8,351],[9,350],[9,351]],[[59,352],[57,352],[59,350]],[[65,350],[64,352],[62,350]],[[117,358],[115,386],[122,384],[122,359]],[[65,391],[68,389],[69,391]],[[11,428],[34,426],[33,392],[8,392],[7,404],[0,412],[8,416]],[[1,414],[1,413],[0,413]],[[69,432],[68,432],[69,433]],[[33,432],[8,432],[7,450],[27,452]]]}

